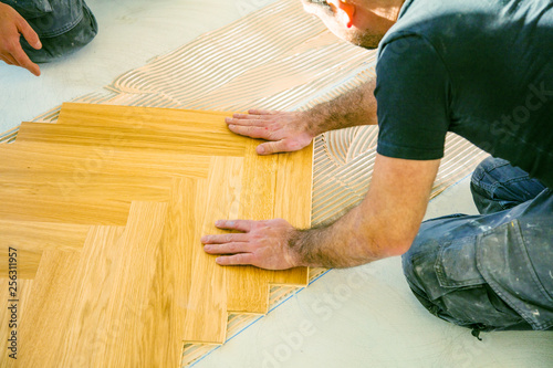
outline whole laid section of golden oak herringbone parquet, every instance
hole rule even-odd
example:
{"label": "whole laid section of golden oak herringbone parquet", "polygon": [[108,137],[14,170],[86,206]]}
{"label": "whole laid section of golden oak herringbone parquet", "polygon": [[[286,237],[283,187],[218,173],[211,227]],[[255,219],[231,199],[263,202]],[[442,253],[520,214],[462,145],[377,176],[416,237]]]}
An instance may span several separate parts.
{"label": "whole laid section of golden oak herringbone parquet", "polygon": [[18,253],[18,359],[3,307],[1,366],[178,367],[185,341],[225,341],[228,313],[267,313],[270,284],[306,285],[306,269],[202,250],[218,219],[310,224],[312,147],[257,156],[229,115],[64,104],[0,145],[1,303]]}

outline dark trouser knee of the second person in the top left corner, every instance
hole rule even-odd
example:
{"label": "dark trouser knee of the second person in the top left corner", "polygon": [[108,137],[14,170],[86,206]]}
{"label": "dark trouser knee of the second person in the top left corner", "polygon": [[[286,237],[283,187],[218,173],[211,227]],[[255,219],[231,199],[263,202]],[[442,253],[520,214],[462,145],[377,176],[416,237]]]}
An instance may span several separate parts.
{"label": "dark trouser knee of the second person in the top left corner", "polygon": [[97,23],[83,0],[0,0],[15,9],[39,34],[41,50],[21,36],[21,45],[35,63],[46,63],[88,44]]}

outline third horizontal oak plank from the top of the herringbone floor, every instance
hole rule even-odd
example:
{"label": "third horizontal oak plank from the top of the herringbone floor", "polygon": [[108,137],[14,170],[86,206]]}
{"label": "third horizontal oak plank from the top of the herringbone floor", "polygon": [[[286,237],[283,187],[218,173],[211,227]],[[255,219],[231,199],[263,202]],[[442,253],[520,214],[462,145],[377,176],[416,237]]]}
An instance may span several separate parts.
{"label": "third horizontal oak plank from the top of the herringbone floor", "polygon": [[125,176],[147,172],[149,176],[207,178],[210,156],[188,155],[109,146],[75,146],[51,143],[0,145],[0,171],[86,172]]}

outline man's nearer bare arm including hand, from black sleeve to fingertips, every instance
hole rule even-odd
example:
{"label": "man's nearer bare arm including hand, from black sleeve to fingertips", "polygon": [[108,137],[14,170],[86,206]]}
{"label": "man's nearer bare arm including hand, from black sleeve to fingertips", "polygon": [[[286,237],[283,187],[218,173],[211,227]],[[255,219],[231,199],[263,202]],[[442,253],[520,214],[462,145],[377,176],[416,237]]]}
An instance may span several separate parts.
{"label": "man's nearer bare arm including hand, from black sleeve to fingertips", "polygon": [[439,160],[377,156],[363,202],[332,225],[295,230],[284,220],[222,221],[242,233],[202,238],[222,265],[282,270],[299,265],[348,267],[406,252],[426,211]]}

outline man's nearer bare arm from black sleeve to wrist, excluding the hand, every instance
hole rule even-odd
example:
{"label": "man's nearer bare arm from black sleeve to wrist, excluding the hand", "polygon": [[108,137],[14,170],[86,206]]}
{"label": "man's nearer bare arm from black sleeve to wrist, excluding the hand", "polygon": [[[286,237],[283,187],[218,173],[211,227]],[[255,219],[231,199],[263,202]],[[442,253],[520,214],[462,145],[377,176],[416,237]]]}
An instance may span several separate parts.
{"label": "man's nearer bare arm from black sleeve to wrist, excluding the hand", "polygon": [[363,202],[332,225],[295,232],[300,263],[348,267],[405,253],[426,212],[439,160],[377,156]]}

